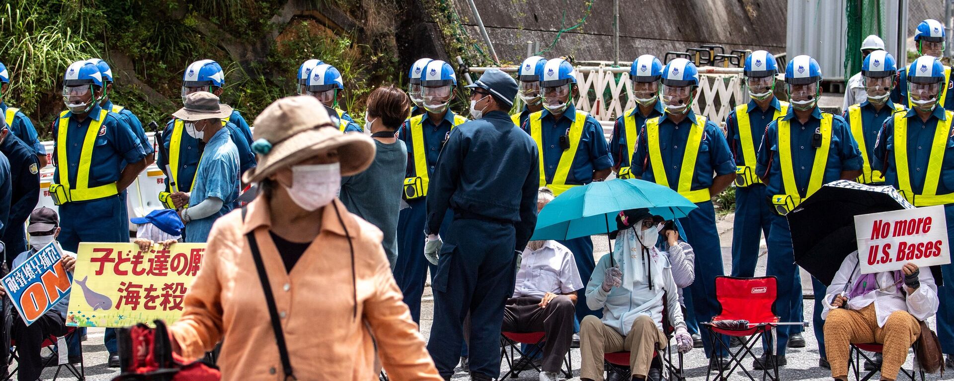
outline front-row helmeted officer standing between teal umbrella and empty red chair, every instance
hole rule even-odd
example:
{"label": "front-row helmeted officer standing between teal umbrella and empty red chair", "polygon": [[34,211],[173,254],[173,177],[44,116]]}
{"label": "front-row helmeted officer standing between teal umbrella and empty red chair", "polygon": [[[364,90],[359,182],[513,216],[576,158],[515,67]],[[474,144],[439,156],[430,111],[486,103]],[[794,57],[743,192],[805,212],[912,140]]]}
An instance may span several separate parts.
{"label": "front-row helmeted officer standing between teal umbrella and empty red chair", "polygon": [[[676,58],[666,65],[660,91],[666,112],[646,120],[630,170],[636,178],[670,187],[698,206],[679,220],[695,250],[695,282],[683,296],[696,320],[705,322],[719,311],[713,295],[716,276],[724,274],[712,197],[729,187],[736,166],[722,131],[692,110],[698,84],[698,70],[689,60]],[[702,344],[706,356],[713,358],[709,335],[702,335]]]}

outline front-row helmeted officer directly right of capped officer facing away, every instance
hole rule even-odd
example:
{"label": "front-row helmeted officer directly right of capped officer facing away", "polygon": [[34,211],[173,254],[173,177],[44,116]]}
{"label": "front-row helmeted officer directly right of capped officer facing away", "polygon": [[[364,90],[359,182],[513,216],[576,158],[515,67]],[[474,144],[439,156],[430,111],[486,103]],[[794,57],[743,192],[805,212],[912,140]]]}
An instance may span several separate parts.
{"label": "front-row helmeted officer directly right of capped officer facing away", "polygon": [[[599,122],[573,106],[572,100],[579,94],[573,66],[562,58],[547,60],[540,77],[540,89],[544,110],[530,114],[523,125],[540,152],[538,185],[549,187],[559,195],[572,187],[606,179],[612,167],[612,155]],[[564,155],[568,155],[568,160],[562,160]],[[590,237],[559,242],[573,252],[580,278],[590,279],[596,267]],[[577,320],[601,314],[602,311],[587,307],[582,292],[577,295]]]}

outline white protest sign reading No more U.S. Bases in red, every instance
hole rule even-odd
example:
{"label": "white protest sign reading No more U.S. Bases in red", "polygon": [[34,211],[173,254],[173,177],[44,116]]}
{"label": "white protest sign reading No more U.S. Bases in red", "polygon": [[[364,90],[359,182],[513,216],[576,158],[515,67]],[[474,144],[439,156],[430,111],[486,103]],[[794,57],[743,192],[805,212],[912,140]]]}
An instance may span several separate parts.
{"label": "white protest sign reading No more U.S. Bases in red", "polygon": [[855,216],[861,273],[950,263],[944,207],[924,207]]}

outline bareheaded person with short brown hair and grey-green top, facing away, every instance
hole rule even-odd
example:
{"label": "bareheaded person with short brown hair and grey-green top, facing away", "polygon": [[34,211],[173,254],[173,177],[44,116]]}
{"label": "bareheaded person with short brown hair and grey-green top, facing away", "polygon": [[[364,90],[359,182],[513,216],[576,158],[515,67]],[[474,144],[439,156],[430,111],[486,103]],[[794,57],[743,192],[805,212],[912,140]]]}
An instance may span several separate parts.
{"label": "bareheaded person with short brown hair and grey-green top, facing away", "polygon": [[398,260],[398,215],[407,148],[395,134],[410,112],[410,100],[394,85],[378,88],[367,97],[364,130],[371,132],[375,155],[371,167],[342,177],[339,198],[344,207],[384,232],[384,253],[394,271]]}

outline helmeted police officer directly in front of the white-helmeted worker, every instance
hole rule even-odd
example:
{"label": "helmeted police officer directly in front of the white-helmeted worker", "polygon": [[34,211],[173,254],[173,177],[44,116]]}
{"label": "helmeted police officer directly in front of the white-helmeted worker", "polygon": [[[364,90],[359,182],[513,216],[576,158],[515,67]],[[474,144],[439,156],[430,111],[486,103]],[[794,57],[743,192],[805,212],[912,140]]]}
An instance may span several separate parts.
{"label": "helmeted police officer directly in front of the white-helmeted worker", "polygon": [[881,170],[872,169],[871,162],[881,126],[894,112],[905,109],[890,99],[897,78],[898,66],[894,57],[884,50],[872,51],[861,64],[861,84],[867,93],[867,99],[860,104],[849,106],[841,114],[848,122],[851,134],[861,151],[861,176],[855,179],[861,184],[884,183]]}

